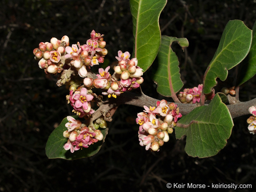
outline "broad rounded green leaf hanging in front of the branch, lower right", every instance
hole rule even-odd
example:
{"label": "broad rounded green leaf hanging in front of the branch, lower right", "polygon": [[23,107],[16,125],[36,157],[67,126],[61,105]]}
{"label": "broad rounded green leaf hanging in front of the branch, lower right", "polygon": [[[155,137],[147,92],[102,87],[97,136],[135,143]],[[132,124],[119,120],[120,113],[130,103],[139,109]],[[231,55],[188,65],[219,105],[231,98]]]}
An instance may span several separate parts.
{"label": "broad rounded green leaf hanging in front of the branch, lower right", "polygon": [[188,127],[176,127],[176,138],[186,135],[185,151],[189,156],[200,158],[214,156],[223,149],[234,125],[228,107],[218,94],[208,106],[195,108],[178,123]]}

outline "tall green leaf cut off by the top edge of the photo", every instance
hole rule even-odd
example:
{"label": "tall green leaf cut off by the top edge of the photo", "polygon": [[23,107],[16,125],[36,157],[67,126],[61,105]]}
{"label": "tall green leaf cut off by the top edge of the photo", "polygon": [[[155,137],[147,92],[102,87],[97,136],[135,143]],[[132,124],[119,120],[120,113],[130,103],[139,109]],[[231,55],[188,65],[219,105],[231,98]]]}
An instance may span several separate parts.
{"label": "tall green leaf cut off by the top edge of the photo", "polygon": [[167,0],[130,0],[134,52],[144,72],[156,59],[161,43],[159,16]]}

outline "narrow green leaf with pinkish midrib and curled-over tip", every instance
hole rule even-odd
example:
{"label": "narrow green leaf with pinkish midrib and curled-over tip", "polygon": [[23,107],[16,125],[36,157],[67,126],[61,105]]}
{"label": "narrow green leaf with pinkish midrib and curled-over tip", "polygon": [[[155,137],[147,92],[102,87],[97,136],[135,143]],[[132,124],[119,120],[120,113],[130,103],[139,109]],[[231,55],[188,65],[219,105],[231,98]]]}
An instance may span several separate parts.
{"label": "narrow green leaf with pinkish midrib and curled-over tip", "polygon": [[157,92],[163,96],[170,97],[183,87],[180,79],[179,60],[176,53],[172,51],[171,45],[174,41],[184,49],[188,47],[186,38],[162,36],[161,47],[158,53],[158,68],[153,74],[153,80],[157,84]]}

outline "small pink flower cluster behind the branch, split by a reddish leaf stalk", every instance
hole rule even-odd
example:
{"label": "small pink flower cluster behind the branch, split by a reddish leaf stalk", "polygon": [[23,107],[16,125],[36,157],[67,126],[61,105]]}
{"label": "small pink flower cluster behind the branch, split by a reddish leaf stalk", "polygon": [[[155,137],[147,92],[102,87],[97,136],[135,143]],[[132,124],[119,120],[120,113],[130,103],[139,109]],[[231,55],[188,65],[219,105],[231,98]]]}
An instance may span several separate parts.
{"label": "small pink flower cluster behind the branch, split by a reddish leaf stalk", "polygon": [[[198,87],[186,88],[183,92],[180,92],[178,99],[181,103],[199,103],[200,96],[202,94],[203,84],[199,84]],[[206,100],[212,100],[215,96],[215,91],[212,89],[212,92],[206,95]]]}

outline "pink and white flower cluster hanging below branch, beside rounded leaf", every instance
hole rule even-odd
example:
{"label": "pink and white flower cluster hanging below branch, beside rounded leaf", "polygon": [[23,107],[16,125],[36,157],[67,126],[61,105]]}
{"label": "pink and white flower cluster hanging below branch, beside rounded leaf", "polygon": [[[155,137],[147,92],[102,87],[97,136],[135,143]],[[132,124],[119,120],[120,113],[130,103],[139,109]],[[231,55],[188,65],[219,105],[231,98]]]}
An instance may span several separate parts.
{"label": "pink and white flower cluster hanging below branch, beside rounded leaf", "polygon": [[[157,107],[144,106],[144,112],[137,114],[136,123],[139,127],[139,141],[146,150],[159,151],[164,142],[168,142],[178,118],[182,115],[176,104],[168,104],[166,100],[157,101]],[[158,118],[156,118],[158,116]]]}

